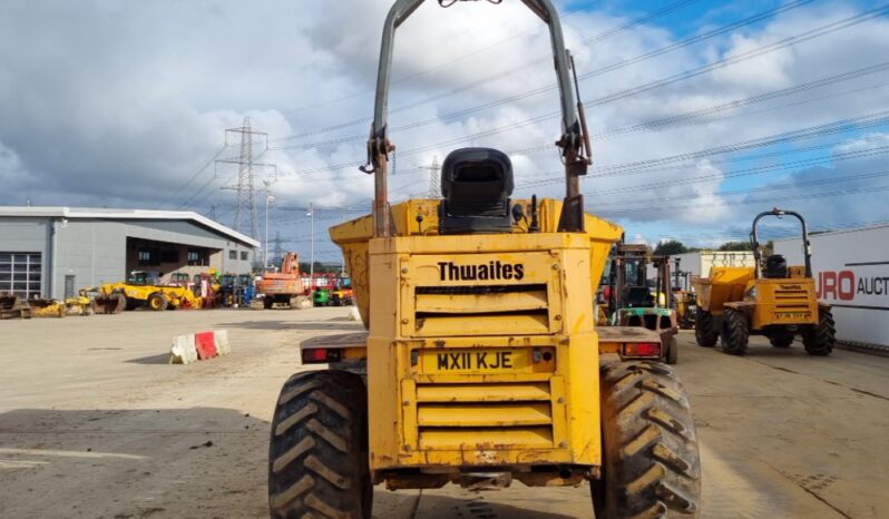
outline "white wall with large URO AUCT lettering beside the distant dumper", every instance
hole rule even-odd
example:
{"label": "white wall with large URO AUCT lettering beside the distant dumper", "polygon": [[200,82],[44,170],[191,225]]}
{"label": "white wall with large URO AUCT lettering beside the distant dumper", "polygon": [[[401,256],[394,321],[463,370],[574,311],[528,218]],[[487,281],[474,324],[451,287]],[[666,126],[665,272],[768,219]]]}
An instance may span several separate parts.
{"label": "white wall with large URO AUCT lettering beside the distant dumper", "polygon": [[[833,306],[837,339],[889,351],[889,225],[809,235],[818,298]],[[775,254],[803,264],[802,238],[776,239]]]}

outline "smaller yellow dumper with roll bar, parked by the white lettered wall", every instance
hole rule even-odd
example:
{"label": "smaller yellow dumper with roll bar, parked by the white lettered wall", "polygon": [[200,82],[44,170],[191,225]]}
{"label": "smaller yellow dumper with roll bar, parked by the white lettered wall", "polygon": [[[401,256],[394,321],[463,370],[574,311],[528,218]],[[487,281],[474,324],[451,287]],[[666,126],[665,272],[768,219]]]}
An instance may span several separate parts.
{"label": "smaller yellow dumper with roll bar, parked by the white lettered wall", "polygon": [[[768,216],[792,216],[802,227],[804,265],[788,266],[781,255],[763,257],[758,225]],[[829,355],[837,342],[830,305],[820,303],[812,277],[812,251],[805,219],[793,210],[774,208],[753,219],[751,242],[755,266],[713,267],[709,277],[692,280],[697,294],[695,337],[725,353],[743,355],[750,335],[765,335],[774,347],[789,347],[802,336],[810,355]]]}

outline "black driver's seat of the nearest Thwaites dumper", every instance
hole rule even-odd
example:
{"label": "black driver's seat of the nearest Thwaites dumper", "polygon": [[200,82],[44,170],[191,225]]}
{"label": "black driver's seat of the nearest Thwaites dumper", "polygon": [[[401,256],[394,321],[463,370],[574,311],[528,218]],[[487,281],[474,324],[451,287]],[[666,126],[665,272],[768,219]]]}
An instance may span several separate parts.
{"label": "black driver's seat of the nearest Thwaites dumper", "polygon": [[440,234],[509,233],[512,163],[491,148],[451,151],[441,170]]}

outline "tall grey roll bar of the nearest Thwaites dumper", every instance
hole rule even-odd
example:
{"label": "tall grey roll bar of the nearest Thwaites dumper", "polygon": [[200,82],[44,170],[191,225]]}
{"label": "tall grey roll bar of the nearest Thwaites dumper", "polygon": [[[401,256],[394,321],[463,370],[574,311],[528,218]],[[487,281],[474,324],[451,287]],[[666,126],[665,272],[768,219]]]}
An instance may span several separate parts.
{"label": "tall grey roll bar of the nearest Thwaites dumper", "polygon": [[[385,18],[383,26],[382,45],[380,49],[380,66],[377,76],[377,98],[368,139],[368,166],[361,170],[374,174],[374,235],[389,236],[392,233],[389,199],[387,193],[387,172],[389,153],[394,146],[389,141],[388,114],[389,114],[389,85],[392,72],[392,53],[394,49],[395,29],[424,2],[426,0],[397,0]],[[561,138],[556,145],[561,148],[565,161],[566,196],[563,206],[559,231],[583,232],[584,209],[580,195],[579,177],[586,175],[589,159],[584,157],[584,130],[578,118],[580,106],[576,105],[574,85],[572,84],[570,60],[565,49],[565,39],[561,32],[561,22],[558,11],[551,0],[521,0],[535,14],[549,27],[553,57],[558,79],[559,96],[561,100]],[[577,108],[576,108],[577,107]],[[588,154],[588,149],[587,149]]]}

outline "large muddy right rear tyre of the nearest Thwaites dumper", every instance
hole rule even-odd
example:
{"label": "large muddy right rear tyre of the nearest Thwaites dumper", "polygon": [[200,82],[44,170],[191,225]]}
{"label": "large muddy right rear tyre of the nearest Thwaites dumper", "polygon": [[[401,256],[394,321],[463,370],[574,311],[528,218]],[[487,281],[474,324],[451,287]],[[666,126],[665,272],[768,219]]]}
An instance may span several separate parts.
{"label": "large muddy right rear tyre of the nearest Thwaites dumper", "polygon": [[673,369],[617,362],[602,369],[603,473],[596,517],[697,518],[701,458],[688,396]]}

